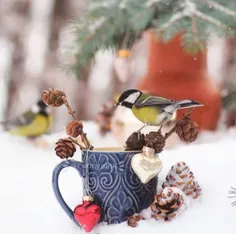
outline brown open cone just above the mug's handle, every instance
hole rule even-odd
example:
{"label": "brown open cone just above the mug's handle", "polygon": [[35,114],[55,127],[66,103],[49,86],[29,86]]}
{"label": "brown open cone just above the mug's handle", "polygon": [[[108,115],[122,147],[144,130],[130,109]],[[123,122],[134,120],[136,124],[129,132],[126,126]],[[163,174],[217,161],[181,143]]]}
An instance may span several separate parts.
{"label": "brown open cone just above the mug's handle", "polygon": [[58,142],[56,142],[55,151],[56,155],[61,159],[73,157],[74,153],[76,152],[75,143],[69,138],[60,139]]}

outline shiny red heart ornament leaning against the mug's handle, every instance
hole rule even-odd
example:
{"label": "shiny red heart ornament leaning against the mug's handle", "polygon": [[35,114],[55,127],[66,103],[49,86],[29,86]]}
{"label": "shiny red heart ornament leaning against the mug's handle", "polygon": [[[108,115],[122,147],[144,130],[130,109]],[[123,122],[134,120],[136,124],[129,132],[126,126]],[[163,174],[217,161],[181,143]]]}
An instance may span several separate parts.
{"label": "shiny red heart ornament leaning against the mug's handle", "polygon": [[101,208],[91,201],[83,201],[74,209],[74,217],[86,232],[92,231],[101,217]]}

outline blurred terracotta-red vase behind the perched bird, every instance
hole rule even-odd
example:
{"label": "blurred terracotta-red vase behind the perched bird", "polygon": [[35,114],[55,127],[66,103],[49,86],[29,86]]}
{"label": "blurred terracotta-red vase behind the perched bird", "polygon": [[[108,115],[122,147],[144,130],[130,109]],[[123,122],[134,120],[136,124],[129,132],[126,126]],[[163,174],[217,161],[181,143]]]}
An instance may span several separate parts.
{"label": "blurred terracotta-red vase behind the perched bird", "polygon": [[[196,56],[187,54],[181,47],[180,35],[163,43],[150,33],[149,43],[148,71],[138,89],[173,100],[201,102],[204,107],[196,108],[191,119],[198,123],[199,129],[216,130],[221,96],[219,87],[208,77],[207,51]],[[187,111],[179,112],[177,118]]]}

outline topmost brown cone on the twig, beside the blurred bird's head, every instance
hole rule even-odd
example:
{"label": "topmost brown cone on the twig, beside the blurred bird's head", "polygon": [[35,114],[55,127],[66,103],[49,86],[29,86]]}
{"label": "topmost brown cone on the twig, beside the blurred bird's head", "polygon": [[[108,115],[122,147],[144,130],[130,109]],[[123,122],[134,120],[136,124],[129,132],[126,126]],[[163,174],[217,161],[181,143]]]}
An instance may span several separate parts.
{"label": "topmost brown cone on the twig, beside the blurred bird's head", "polygon": [[45,89],[42,94],[41,98],[46,105],[59,107],[64,104],[62,97],[65,97],[66,94],[58,89]]}

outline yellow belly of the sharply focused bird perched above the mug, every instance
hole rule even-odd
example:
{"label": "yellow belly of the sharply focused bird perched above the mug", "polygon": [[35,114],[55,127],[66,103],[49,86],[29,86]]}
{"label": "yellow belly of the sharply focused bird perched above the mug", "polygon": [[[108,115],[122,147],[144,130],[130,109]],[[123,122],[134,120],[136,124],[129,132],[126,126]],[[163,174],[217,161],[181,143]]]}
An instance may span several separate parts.
{"label": "yellow belly of the sharply focused bird perched above the mug", "polygon": [[158,110],[156,107],[135,108],[135,106],[133,106],[132,112],[134,116],[144,124],[154,126],[157,124]]}

